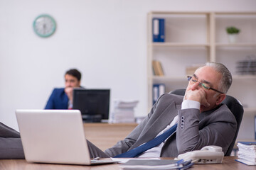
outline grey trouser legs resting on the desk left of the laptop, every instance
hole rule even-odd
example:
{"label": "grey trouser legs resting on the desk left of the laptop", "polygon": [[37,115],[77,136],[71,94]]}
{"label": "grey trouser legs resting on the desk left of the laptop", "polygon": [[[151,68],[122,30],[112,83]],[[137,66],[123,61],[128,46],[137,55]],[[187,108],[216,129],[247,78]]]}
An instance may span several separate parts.
{"label": "grey trouser legs resting on the desk left of the laptop", "polygon": [[0,159],[24,159],[19,133],[0,123]]}

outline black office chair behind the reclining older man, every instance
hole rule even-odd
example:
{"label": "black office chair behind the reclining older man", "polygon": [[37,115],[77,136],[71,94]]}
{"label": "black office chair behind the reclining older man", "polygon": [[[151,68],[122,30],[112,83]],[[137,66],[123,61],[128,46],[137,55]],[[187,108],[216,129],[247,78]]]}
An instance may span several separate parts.
{"label": "black office chair behind the reclining older man", "polygon": [[[184,96],[186,89],[176,89],[174,91],[171,91],[170,94],[176,94],[179,96]],[[228,96],[226,95],[224,101],[222,102],[224,104],[226,104],[228,106],[228,108],[230,109],[230,111],[233,113],[233,115],[235,115],[235,120],[237,121],[237,130],[235,131],[235,137],[233,139],[233,141],[231,142],[230,146],[228,147],[228,151],[225,154],[225,156],[230,156],[233,147],[235,145],[235,140],[238,137],[238,131],[242,122],[242,115],[244,113],[242,104],[240,103],[240,101],[238,101],[236,98],[234,98],[233,96]]]}

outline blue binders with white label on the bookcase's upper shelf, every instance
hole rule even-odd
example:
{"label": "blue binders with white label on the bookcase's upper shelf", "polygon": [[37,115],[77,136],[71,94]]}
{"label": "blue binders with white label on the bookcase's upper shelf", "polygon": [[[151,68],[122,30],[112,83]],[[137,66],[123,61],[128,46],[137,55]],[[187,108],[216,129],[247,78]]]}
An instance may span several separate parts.
{"label": "blue binders with white label on the bookcase's upper shelf", "polygon": [[152,35],[153,42],[164,42],[165,40],[165,29],[164,18],[152,18]]}

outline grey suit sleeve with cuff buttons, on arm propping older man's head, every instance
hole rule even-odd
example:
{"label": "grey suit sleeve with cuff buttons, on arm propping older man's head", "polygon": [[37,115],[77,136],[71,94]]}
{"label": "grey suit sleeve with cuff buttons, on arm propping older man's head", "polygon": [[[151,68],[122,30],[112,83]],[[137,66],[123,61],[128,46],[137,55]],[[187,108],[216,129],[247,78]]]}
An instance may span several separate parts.
{"label": "grey suit sleeve with cuff buttons, on arm propping older man's head", "polygon": [[208,115],[210,118],[199,125],[199,110],[184,109],[178,112],[176,144],[178,154],[198,150],[207,145],[217,145],[227,152],[236,130],[235,117],[226,106]]}

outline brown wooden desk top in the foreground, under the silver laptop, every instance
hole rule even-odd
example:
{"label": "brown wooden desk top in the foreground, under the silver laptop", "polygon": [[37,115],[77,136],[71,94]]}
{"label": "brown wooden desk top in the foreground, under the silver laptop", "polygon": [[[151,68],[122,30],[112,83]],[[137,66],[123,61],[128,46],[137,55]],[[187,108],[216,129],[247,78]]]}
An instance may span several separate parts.
{"label": "brown wooden desk top in the foreground, under the silver laptop", "polygon": [[[171,158],[168,158],[171,159]],[[211,170],[211,169],[232,169],[232,170],[251,170],[256,166],[247,166],[240,162],[236,162],[237,157],[225,157],[222,164],[195,164],[191,170]],[[1,159],[1,170],[119,170],[119,164],[107,164],[99,166],[80,166],[80,165],[63,165],[63,164],[31,164],[24,159]]]}

